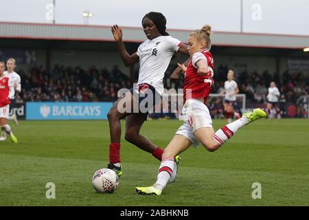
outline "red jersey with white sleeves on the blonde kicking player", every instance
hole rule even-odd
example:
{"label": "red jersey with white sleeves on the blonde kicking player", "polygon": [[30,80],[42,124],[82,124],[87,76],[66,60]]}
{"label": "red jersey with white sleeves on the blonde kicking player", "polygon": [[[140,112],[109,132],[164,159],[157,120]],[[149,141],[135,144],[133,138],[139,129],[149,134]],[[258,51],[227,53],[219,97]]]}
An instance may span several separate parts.
{"label": "red jersey with white sleeves on the blonde kicking player", "polygon": [[[208,64],[208,75],[198,76],[197,71],[198,67],[195,65],[197,61],[201,59],[206,59]],[[195,53],[192,56],[192,59],[187,65],[187,72],[185,73],[185,81],[183,84],[183,102],[187,98],[190,98],[191,89],[191,98],[204,98],[204,103],[206,102],[210,91],[211,85],[214,84],[214,58],[208,50],[203,50],[201,53]]]}

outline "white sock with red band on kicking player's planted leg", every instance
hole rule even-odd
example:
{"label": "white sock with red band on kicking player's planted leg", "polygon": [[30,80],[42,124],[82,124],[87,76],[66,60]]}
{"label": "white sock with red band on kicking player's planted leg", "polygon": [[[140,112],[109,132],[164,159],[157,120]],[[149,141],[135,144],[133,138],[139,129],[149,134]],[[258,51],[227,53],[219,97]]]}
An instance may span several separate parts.
{"label": "white sock with red band on kicking player's planted leg", "polygon": [[173,157],[166,157],[162,160],[159,173],[157,176],[157,181],[155,183],[155,188],[159,190],[163,190],[168,181],[170,180],[170,176],[172,175],[174,170],[174,158]]}

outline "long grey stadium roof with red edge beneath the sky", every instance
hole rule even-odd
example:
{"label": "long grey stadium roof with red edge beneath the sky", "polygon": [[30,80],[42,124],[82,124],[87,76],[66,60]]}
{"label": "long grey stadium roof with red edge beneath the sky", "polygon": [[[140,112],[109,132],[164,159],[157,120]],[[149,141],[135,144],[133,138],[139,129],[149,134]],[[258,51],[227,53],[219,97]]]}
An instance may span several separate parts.
{"label": "long grey stadium roof with red edge beneath the sky", "polygon": [[[125,42],[142,42],[146,36],[141,28],[122,27]],[[187,42],[190,30],[168,30],[171,36]],[[113,41],[111,27],[101,25],[61,25],[45,23],[0,22],[0,38],[46,39],[71,41]],[[218,46],[304,48],[309,36],[215,32],[212,44]]]}

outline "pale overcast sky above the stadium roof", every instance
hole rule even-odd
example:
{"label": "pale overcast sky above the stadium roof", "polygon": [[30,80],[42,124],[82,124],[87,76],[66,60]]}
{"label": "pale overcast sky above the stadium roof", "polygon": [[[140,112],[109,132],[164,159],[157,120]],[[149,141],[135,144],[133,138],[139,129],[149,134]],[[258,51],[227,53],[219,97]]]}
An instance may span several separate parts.
{"label": "pale overcast sky above the stadium roof", "polygon": [[[53,0],[0,1],[0,21],[52,23],[46,18]],[[141,28],[144,14],[159,11],[171,29],[193,30],[209,23],[214,31],[309,36],[308,0],[243,0],[242,17],[240,5],[241,0],[56,0],[54,17],[56,23],[82,25],[82,12],[89,11],[94,14],[89,25]]]}

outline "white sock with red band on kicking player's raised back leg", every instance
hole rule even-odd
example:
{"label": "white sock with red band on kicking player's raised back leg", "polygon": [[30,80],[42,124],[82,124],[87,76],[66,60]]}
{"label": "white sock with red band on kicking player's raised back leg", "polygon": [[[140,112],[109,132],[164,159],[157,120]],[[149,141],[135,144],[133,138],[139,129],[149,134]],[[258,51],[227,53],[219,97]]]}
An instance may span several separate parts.
{"label": "white sock with red band on kicking player's raised back leg", "polygon": [[221,129],[216,131],[214,136],[212,137],[218,144],[222,146],[231,136],[238,131],[242,126],[249,123],[249,120],[246,117],[242,117],[234,122],[231,122],[225,126],[222,126]]}

